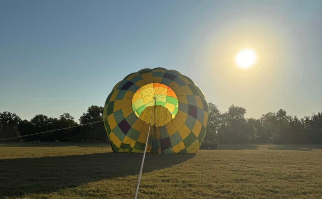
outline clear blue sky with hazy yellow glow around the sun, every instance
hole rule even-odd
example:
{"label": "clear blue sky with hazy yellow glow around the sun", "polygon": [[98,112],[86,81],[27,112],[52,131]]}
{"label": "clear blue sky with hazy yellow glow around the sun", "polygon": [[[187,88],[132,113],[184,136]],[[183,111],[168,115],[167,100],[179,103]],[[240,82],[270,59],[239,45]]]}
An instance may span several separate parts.
{"label": "clear blue sky with hazy yellow glow around the sun", "polygon": [[[78,120],[142,68],[189,76],[221,111],[322,111],[322,1],[0,1],[0,112]],[[258,60],[239,68],[235,55]]]}

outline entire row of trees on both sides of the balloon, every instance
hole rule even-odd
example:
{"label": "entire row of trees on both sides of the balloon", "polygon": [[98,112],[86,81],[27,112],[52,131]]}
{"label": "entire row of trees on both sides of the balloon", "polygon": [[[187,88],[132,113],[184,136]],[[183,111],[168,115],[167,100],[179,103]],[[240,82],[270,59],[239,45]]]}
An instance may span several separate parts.
{"label": "entire row of trees on both sides of the balloon", "polygon": [[[69,113],[59,118],[39,114],[30,121],[17,114],[0,113],[0,139],[37,132],[74,127],[103,120],[103,107],[93,105],[77,123]],[[322,144],[322,113],[298,118],[287,115],[284,109],[263,114],[260,118],[245,118],[246,109],[231,105],[220,112],[209,103],[209,123],[203,144]],[[102,122],[44,134],[16,138],[9,141],[101,142],[107,140]]]}

